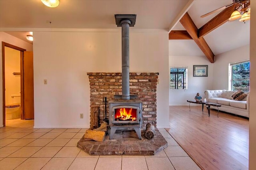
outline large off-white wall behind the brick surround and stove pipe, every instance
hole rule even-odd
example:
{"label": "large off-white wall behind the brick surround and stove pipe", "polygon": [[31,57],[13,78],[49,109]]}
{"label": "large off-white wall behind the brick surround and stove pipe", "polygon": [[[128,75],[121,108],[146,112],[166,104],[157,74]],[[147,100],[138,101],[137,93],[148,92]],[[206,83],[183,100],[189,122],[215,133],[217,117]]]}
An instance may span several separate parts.
{"label": "large off-white wall behind the brick surround and stove pipe", "polygon": [[[34,127],[89,127],[86,73],[121,72],[121,32],[34,32],[33,36]],[[160,73],[157,127],[169,127],[168,32],[130,32],[130,72]]]}

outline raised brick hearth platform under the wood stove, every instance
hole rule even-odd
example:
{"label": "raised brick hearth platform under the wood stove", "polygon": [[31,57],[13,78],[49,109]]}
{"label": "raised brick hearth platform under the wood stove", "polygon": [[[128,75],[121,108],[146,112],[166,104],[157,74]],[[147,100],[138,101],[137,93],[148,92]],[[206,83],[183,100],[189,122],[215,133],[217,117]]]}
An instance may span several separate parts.
{"label": "raised brick hearth platform under the wood stove", "polygon": [[145,138],[145,129],[141,135],[140,140],[134,130],[116,130],[114,139],[107,135],[103,142],[84,140],[83,136],[77,147],[90,155],[155,155],[168,146],[157,128],[153,139]]}

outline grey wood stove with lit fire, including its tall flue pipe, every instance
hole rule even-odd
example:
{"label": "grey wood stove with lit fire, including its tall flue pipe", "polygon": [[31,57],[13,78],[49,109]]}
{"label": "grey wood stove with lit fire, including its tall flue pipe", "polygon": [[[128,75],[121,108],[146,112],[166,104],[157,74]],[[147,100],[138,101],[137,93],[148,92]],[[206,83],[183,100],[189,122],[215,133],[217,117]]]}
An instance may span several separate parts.
{"label": "grey wood stove with lit fire, including its tall flue pipe", "polygon": [[110,139],[117,128],[134,128],[141,139],[142,101],[130,95],[129,85],[129,27],[135,25],[136,15],[116,14],[116,25],[122,27],[122,96],[109,101]]}

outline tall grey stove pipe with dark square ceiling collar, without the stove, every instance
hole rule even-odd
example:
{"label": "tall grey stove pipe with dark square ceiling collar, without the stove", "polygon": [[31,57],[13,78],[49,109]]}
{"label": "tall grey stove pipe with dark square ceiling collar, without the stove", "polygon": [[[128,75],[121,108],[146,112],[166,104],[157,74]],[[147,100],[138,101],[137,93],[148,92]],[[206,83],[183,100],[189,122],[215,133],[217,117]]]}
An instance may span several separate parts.
{"label": "tall grey stove pipe with dark square ceiling collar, without the stove", "polygon": [[115,14],[116,25],[122,27],[122,99],[130,100],[129,27],[134,27],[136,14]]}

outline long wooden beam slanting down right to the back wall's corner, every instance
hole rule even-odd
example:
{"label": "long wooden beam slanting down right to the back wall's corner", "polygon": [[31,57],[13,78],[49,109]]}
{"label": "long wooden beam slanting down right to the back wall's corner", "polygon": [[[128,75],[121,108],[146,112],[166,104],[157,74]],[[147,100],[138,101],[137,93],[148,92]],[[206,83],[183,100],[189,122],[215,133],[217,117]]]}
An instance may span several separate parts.
{"label": "long wooden beam slanting down right to the back wall's corner", "polygon": [[188,34],[192,37],[192,39],[196,42],[198,47],[203,51],[208,60],[211,63],[214,63],[214,54],[212,50],[210,49],[204,38],[198,38],[198,29],[191,17],[189,16],[188,12],[186,12],[186,14],[180,19],[180,23],[187,30]]}

